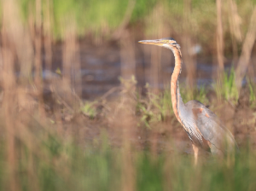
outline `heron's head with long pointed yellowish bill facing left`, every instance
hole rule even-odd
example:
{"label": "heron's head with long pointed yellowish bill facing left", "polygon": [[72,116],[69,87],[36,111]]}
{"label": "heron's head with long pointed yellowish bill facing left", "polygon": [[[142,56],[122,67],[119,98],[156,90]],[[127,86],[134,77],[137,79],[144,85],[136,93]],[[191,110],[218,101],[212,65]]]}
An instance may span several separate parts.
{"label": "heron's head with long pointed yellowish bill facing left", "polygon": [[177,48],[180,49],[179,44],[173,38],[160,38],[157,40],[141,40],[139,43],[154,44],[165,47],[166,49]]}

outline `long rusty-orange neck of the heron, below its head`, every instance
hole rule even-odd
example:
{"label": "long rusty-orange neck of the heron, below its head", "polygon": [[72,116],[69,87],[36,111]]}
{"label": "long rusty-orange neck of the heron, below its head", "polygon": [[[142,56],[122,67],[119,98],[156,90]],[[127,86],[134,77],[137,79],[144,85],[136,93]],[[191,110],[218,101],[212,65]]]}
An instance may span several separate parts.
{"label": "long rusty-orange neck of the heron, below its head", "polygon": [[172,72],[172,79],[171,79],[171,95],[172,95],[172,108],[173,112],[177,120],[182,123],[181,121],[181,112],[184,109],[183,99],[180,96],[179,88],[178,88],[178,78],[182,71],[182,55],[179,49],[173,48],[172,52],[175,56],[175,67]]}

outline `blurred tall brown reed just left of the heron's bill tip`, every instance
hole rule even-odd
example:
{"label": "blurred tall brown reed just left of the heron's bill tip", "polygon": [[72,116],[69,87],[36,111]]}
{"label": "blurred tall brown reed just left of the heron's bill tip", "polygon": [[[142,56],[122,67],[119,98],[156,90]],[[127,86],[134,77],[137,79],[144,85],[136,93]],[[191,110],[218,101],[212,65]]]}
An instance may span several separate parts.
{"label": "blurred tall brown reed just left of the heron's bill tip", "polygon": [[[121,168],[120,190],[133,191],[136,189],[135,154],[133,143],[136,137],[136,126],[132,108],[135,107],[133,96],[136,90],[136,83],[131,78],[136,74],[136,61],[134,52],[134,41],[131,34],[127,31],[120,38],[120,59],[121,59],[121,78],[123,80],[123,92],[118,106],[115,107],[113,117],[113,131],[121,139]],[[131,81],[130,81],[131,80]]]}

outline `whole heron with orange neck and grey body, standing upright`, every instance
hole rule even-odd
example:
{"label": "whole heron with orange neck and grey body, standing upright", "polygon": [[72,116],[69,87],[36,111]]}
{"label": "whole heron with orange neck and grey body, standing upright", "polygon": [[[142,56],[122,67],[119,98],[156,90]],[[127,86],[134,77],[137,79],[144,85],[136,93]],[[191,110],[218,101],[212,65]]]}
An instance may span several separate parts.
{"label": "whole heron with orange neck and grey body, standing upright", "polygon": [[173,38],[159,40],[144,40],[148,43],[171,49],[175,56],[175,67],[171,79],[172,108],[177,120],[187,132],[195,151],[195,164],[199,147],[211,148],[212,153],[223,155],[233,152],[236,147],[234,136],[226,129],[218,117],[200,101],[183,103],[178,87],[178,78],[182,71],[182,54],[180,46]]}

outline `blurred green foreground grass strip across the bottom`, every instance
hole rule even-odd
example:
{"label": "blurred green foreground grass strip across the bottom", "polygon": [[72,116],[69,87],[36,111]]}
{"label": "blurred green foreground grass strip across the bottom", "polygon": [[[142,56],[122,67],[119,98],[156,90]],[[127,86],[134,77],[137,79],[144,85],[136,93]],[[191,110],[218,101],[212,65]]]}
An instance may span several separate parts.
{"label": "blurred green foreground grass strip across the bottom", "polygon": [[[15,183],[19,190],[255,190],[255,151],[241,148],[235,164],[227,159],[208,158],[197,166],[193,155],[166,152],[153,156],[148,151],[132,149],[134,169],[131,179],[124,180],[127,165],[124,148],[111,148],[102,142],[86,149],[48,135],[32,152],[22,143],[17,147]],[[9,188],[9,166],[6,165],[5,143],[1,143],[0,188]]]}

